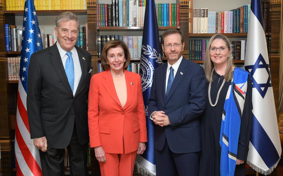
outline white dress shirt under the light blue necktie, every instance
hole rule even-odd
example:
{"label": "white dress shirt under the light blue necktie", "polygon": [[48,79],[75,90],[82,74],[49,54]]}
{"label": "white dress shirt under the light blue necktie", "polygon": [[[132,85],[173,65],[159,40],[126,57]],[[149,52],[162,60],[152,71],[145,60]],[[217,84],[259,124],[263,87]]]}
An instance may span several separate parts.
{"label": "white dress shirt under the light blue necktie", "polygon": [[[63,48],[60,46],[60,44],[58,42],[56,42],[61,59],[62,59],[62,63],[65,69],[65,65],[66,65],[66,60],[68,58],[68,56],[66,55],[67,51],[63,50]],[[72,53],[72,58],[74,61],[74,72],[75,72],[75,79],[74,79],[74,91],[73,91],[73,95],[75,96],[79,82],[81,80],[81,64],[80,64],[80,60],[79,60],[79,56],[78,56],[78,52],[76,47],[74,47],[71,50]]]}

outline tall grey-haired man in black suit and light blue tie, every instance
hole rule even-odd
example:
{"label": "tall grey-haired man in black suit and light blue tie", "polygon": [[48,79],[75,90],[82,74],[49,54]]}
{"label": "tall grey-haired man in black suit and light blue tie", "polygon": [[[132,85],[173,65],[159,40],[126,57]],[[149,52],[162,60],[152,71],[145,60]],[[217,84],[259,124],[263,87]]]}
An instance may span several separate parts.
{"label": "tall grey-haired man in black suit and light blue tie", "polygon": [[79,27],[80,21],[72,12],[58,15],[57,42],[30,58],[27,113],[44,176],[64,174],[66,147],[71,175],[88,175],[91,55],[75,46]]}

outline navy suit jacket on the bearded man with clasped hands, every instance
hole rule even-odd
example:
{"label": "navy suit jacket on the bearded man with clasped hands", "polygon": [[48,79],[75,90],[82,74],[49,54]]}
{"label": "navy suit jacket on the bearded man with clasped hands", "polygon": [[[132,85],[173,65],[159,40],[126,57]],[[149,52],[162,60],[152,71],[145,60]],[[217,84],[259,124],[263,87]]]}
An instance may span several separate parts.
{"label": "navy suit jacket on the bearded man with clasped hands", "polygon": [[154,70],[148,112],[164,111],[170,125],[155,125],[154,147],[161,151],[165,139],[174,153],[201,150],[200,115],[206,105],[206,78],[203,68],[183,57],[165,98],[167,63]]}

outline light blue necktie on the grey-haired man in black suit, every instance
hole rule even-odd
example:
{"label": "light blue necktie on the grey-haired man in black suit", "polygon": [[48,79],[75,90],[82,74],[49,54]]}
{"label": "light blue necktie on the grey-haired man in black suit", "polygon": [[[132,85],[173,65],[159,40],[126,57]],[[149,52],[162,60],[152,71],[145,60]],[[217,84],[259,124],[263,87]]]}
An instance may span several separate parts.
{"label": "light blue necktie on the grey-haired man in black suit", "polygon": [[74,80],[75,80],[75,71],[74,71],[74,61],[72,58],[71,51],[67,51],[66,55],[68,56],[65,64],[65,72],[71,86],[72,92],[74,91]]}

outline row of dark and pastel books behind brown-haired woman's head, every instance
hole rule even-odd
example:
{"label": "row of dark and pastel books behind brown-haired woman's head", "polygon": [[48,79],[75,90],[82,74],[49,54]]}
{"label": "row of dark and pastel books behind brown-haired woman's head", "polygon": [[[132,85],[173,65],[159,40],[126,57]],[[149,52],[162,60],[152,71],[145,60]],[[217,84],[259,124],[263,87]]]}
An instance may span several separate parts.
{"label": "row of dark and pastel books behind brown-haired woman's head", "polygon": [[119,35],[98,35],[97,36],[97,51],[98,57],[101,57],[101,51],[110,40],[121,40],[124,41],[128,46],[131,57],[141,57],[141,42],[142,36],[119,36]]}

